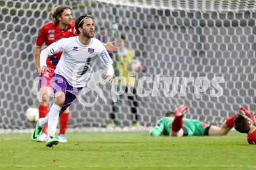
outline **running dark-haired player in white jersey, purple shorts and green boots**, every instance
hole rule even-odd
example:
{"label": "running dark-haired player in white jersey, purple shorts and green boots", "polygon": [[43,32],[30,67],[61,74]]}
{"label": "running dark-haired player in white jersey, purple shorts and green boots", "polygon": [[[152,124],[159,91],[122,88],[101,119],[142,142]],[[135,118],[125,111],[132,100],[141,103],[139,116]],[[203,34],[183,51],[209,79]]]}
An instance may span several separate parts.
{"label": "running dark-haired player in white jersey, purple shorts and green boots", "polygon": [[31,134],[32,140],[37,140],[45,124],[48,125],[46,146],[58,144],[55,138],[59,115],[70,106],[81,89],[86,86],[88,67],[93,67],[99,58],[106,70],[105,80],[113,81],[112,59],[106,48],[94,37],[94,21],[88,15],[80,16],[75,21],[75,28],[79,36],[62,38],[42,50],[40,55],[40,73],[44,74],[47,67],[47,56],[63,51],[52,78],[52,87],[55,93],[54,104],[47,117],[40,118]]}

